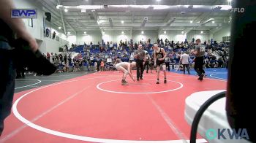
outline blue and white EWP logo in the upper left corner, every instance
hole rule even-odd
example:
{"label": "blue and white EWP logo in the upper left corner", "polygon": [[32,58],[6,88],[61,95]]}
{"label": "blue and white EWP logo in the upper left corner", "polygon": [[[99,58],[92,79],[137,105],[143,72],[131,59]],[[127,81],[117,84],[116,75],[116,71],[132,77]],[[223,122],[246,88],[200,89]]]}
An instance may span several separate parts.
{"label": "blue and white EWP logo in the upper left corner", "polygon": [[37,9],[12,9],[11,18],[37,18]]}

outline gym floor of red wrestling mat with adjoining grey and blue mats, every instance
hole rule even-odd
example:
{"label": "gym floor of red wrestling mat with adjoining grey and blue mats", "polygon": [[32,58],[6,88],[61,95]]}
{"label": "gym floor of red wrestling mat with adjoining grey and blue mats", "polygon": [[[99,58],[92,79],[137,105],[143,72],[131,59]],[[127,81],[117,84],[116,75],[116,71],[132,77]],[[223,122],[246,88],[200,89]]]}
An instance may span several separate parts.
{"label": "gym floor of red wrestling mat with adjoining grey and blue mats", "polygon": [[[178,72],[178,73],[177,73]],[[225,90],[226,69],[167,72],[121,85],[118,71],[58,73],[18,79],[12,114],[0,142],[184,142],[190,125],[185,99],[203,90]],[[135,71],[133,71],[135,75]],[[206,142],[197,135],[197,142]]]}

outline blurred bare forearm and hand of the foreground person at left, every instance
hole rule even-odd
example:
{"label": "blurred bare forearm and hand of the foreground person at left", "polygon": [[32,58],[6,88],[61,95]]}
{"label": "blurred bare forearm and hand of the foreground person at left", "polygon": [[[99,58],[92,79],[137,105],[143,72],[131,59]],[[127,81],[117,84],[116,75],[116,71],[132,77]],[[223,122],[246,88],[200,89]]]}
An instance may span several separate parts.
{"label": "blurred bare forearm and hand of the foreground person at left", "polygon": [[0,9],[0,18],[7,23],[8,26],[14,31],[18,37],[24,39],[25,41],[29,42],[29,45],[33,51],[38,49],[38,45],[36,40],[26,31],[26,27],[23,23],[23,20],[19,18],[11,18],[10,12],[11,9],[15,9],[15,6],[12,0],[1,0],[0,5],[4,6]]}

